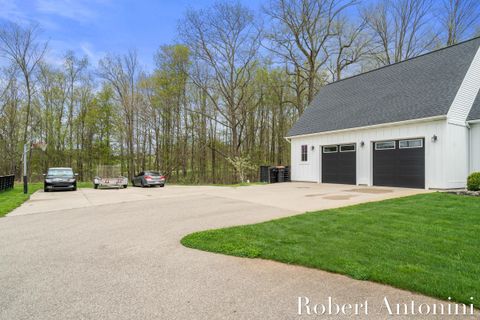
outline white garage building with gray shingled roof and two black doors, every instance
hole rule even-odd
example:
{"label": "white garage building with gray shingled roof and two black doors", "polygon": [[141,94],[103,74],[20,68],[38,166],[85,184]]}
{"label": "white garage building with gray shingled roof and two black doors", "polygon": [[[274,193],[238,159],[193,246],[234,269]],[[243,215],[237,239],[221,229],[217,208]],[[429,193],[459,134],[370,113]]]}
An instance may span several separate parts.
{"label": "white garage building with gray shingled roof and two black doors", "polygon": [[288,133],[292,181],[463,188],[480,171],[480,37],[322,88]]}

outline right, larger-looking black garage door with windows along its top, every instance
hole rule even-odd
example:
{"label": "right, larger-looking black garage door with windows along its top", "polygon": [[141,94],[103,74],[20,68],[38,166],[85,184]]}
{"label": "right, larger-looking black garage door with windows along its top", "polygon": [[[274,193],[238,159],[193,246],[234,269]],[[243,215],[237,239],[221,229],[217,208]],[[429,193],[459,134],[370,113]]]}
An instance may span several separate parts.
{"label": "right, larger-looking black garage door with windows along its top", "polygon": [[373,184],[425,188],[425,140],[391,140],[374,143]]}

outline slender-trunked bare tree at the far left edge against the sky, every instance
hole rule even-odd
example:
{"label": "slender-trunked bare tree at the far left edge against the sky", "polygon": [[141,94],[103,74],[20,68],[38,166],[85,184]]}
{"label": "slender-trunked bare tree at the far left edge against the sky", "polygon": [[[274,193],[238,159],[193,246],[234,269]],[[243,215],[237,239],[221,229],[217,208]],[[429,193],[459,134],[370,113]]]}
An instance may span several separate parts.
{"label": "slender-trunked bare tree at the far left edge against the sky", "polygon": [[47,50],[47,43],[39,42],[38,36],[39,29],[36,25],[24,28],[15,23],[7,23],[0,27],[0,54],[20,69],[25,81],[27,101],[23,143],[27,141],[30,126],[33,74]]}

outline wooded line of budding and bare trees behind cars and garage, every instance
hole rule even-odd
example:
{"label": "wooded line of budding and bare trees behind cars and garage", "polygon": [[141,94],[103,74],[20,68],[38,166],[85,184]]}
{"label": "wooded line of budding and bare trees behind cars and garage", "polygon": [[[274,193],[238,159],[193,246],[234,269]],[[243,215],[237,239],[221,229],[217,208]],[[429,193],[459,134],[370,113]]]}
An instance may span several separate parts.
{"label": "wooded line of budding and bare trees behind cars and garage", "polygon": [[[134,50],[47,63],[36,25],[0,26],[0,174],[118,164],[185,183],[288,164],[288,129],[329,82],[479,35],[477,0],[270,0],[189,10],[142,70]],[[155,39],[152,39],[154,41]]]}

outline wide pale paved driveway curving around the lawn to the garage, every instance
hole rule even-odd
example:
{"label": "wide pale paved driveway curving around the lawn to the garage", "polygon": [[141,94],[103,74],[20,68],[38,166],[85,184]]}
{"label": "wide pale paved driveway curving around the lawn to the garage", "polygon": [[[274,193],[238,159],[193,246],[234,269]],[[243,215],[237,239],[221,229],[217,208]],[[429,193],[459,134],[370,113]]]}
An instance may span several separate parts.
{"label": "wide pale paved driveway curving around the lawn to the garage", "polygon": [[[316,303],[368,299],[368,318],[385,319],[384,297],[436,300],[187,249],[179,240],[193,231],[418,192],[308,183],[38,192],[0,219],[0,318],[294,319],[298,297],[306,296]],[[300,317],[309,318],[315,316]]]}

